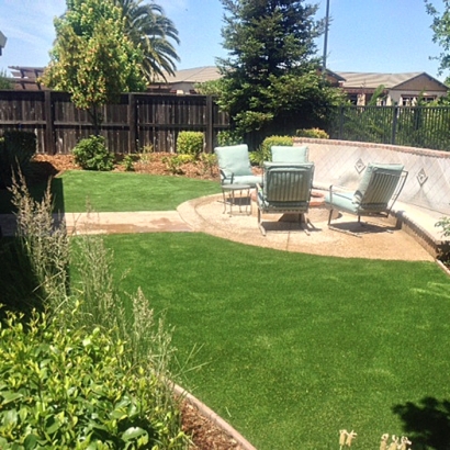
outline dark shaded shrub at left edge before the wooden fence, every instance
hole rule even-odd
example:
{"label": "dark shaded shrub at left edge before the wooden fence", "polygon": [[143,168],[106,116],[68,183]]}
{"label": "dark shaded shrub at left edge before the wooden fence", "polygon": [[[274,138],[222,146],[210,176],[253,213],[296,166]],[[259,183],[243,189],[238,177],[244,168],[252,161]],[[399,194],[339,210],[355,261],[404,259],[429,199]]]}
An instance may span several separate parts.
{"label": "dark shaded shrub at left edge before the wooden fence", "polygon": [[5,131],[0,137],[0,187],[10,185],[12,176],[27,176],[36,153],[36,135],[30,132]]}

